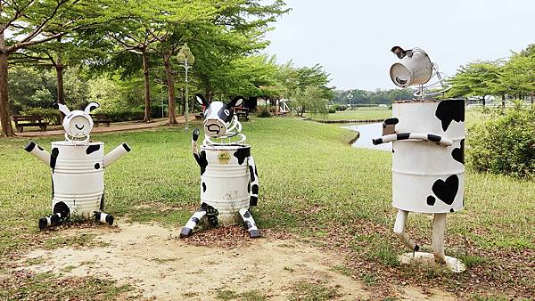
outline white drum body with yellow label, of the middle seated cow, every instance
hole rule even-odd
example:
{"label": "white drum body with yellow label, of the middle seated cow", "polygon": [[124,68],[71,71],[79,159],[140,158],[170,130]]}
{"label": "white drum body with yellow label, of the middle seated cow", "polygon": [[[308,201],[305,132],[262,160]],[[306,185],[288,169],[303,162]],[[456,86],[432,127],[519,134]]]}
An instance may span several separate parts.
{"label": "white drum body with yellow label, of the middle seated cow", "polygon": [[218,209],[219,224],[235,224],[241,208],[249,208],[251,183],[246,144],[202,145],[208,166],[201,175],[201,201]]}

